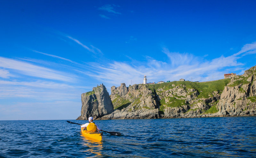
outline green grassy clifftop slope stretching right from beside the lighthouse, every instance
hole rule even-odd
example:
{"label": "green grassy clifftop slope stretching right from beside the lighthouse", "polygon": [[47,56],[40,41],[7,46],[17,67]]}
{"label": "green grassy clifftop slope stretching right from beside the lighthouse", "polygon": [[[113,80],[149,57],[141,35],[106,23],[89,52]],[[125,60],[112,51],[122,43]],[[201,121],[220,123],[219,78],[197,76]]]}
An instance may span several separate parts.
{"label": "green grassy clifftop slope stretching right from beside the lighthouse", "polygon": [[[176,86],[185,85],[186,90],[195,89],[199,94],[199,98],[209,98],[212,97],[212,93],[214,91],[222,92],[224,87],[230,82],[229,78],[221,79],[217,81],[209,81],[209,82],[190,82],[190,81],[172,81],[168,83],[160,83],[160,84],[149,84],[147,87],[154,92],[154,89],[163,89],[170,90]],[[174,86],[172,86],[174,85]]]}

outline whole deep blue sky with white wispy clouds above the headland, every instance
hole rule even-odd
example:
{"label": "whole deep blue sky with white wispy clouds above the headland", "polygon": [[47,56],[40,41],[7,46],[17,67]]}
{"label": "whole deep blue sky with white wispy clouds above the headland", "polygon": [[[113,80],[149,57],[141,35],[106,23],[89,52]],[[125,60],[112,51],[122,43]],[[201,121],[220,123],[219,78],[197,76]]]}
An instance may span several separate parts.
{"label": "whole deep blue sky with white wispy clouds above the headland", "polygon": [[256,65],[256,1],[2,1],[0,120],[76,119],[103,83],[211,81]]}

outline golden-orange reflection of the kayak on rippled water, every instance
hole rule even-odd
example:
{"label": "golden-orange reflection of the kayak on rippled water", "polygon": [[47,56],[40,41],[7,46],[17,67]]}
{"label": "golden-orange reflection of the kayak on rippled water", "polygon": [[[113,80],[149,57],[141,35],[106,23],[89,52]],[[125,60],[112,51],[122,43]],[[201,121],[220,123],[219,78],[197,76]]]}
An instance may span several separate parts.
{"label": "golden-orange reflection of the kayak on rippled water", "polygon": [[82,145],[85,146],[85,150],[83,150],[82,152],[85,152],[86,157],[88,158],[103,157],[102,141],[86,138],[82,134],[81,134],[81,137],[83,138]]}

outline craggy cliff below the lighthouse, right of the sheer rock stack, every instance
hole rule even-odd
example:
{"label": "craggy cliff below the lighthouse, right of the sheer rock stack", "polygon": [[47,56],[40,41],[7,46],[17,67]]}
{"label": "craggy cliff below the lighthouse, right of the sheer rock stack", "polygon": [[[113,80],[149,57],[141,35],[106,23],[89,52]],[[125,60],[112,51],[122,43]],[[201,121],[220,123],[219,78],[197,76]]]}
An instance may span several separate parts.
{"label": "craggy cliff below the lighthouse, right of the sheer rock stack", "polygon": [[144,85],[134,84],[129,88],[125,83],[111,87],[110,98],[116,109],[100,119],[153,119],[160,118],[152,91]]}

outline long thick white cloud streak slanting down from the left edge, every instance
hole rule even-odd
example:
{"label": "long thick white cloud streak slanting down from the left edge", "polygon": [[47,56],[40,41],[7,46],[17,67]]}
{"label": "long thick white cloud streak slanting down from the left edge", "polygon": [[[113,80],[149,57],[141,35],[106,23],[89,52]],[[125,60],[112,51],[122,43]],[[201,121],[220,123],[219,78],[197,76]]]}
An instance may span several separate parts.
{"label": "long thick white cloud streak slanting down from the left edge", "polygon": [[33,77],[69,82],[74,80],[74,77],[60,71],[4,57],[0,57],[0,68],[1,67],[5,69],[12,69],[13,73]]}

